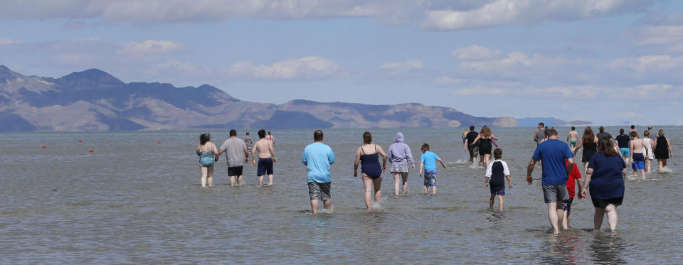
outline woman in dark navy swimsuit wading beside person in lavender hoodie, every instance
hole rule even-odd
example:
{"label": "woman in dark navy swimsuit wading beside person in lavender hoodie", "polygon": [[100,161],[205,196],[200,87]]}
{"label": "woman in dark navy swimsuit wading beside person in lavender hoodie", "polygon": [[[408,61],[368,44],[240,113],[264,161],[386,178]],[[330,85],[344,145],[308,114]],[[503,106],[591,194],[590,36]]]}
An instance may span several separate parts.
{"label": "woman in dark navy swimsuit wading beside person in lavender hoodie", "polygon": [[[379,166],[378,155],[383,158],[382,166]],[[381,146],[372,144],[372,134],[366,131],[363,134],[363,145],[356,150],[356,162],[354,163],[354,178],[358,176],[358,164],[361,164],[361,176],[365,186],[365,206],[372,206],[372,190],[375,191],[375,202],[381,197],[382,173],[386,170],[386,153]]]}

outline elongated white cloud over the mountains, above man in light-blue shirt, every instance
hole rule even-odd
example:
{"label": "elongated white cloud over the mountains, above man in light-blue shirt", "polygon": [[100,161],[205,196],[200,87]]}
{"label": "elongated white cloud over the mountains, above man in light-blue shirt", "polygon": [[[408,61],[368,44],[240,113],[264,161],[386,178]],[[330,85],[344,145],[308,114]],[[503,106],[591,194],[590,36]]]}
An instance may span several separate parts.
{"label": "elongated white cloud over the mountains, above man in light-blue shirt", "polygon": [[234,63],[231,76],[253,80],[320,79],[342,74],[342,67],[319,56],[288,59],[271,65],[254,65],[250,61]]}

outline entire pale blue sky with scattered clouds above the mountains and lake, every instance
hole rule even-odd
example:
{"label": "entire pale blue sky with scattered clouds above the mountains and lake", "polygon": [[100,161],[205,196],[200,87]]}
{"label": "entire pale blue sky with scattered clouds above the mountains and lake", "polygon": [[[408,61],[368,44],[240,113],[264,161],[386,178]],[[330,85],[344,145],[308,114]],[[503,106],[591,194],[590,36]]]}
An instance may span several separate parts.
{"label": "entire pale blue sky with scattered clouds above the mountains and lake", "polygon": [[0,65],[238,99],[682,125],[683,1],[0,0]]}

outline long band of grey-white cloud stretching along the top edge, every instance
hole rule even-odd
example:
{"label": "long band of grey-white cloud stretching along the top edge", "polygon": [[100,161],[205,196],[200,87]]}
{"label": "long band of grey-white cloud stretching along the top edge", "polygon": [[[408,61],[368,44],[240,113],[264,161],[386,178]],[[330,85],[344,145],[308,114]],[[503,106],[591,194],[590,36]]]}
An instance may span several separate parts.
{"label": "long band of grey-white cloud stretching along the top edge", "polygon": [[[462,30],[534,25],[640,11],[654,0],[24,0],[4,1],[1,20],[103,19],[136,23],[221,23],[229,18],[370,17],[381,23]],[[78,21],[68,26],[81,27]]]}

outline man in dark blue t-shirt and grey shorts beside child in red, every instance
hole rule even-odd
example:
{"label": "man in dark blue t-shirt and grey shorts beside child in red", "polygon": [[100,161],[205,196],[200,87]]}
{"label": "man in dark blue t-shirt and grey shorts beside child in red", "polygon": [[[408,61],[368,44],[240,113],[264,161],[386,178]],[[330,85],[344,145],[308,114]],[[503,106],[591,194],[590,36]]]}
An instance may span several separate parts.
{"label": "man in dark blue t-shirt and grey shorts beside child in red", "polygon": [[[534,171],[537,161],[543,161],[541,165],[543,169],[541,180],[543,197],[546,205],[548,205],[548,219],[553,226],[553,231],[555,234],[559,234],[564,212],[562,203],[558,202],[569,200],[567,178],[574,167],[574,155],[569,146],[558,139],[555,129],[546,130],[545,134],[548,139],[536,147],[534,156],[531,157],[529,166],[526,168],[526,182],[529,185],[533,183],[531,172]],[[568,166],[565,166],[565,161],[568,161]]]}

